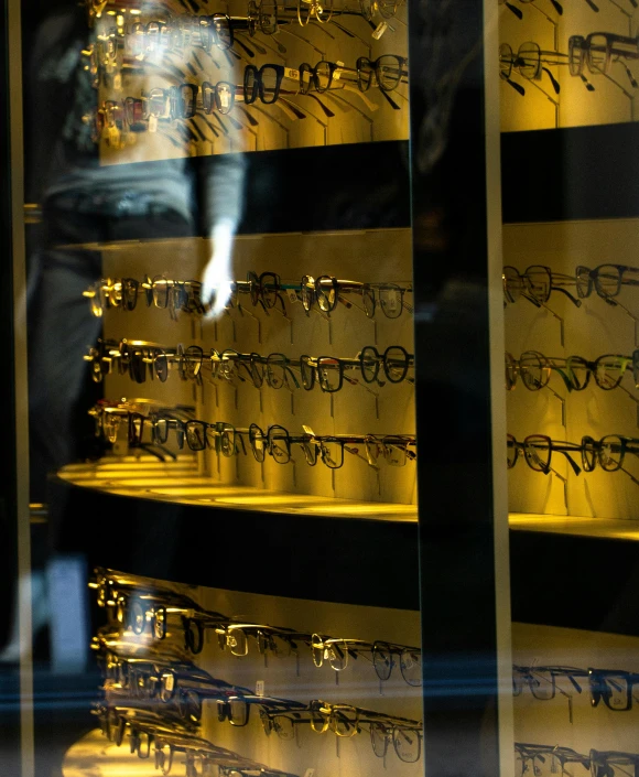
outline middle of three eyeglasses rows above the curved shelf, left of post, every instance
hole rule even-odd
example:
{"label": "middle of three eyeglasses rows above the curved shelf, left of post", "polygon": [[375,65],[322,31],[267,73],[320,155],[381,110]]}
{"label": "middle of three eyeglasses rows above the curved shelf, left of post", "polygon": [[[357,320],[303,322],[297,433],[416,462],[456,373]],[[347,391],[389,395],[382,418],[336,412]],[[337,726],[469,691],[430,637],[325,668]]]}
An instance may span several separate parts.
{"label": "middle of three eyeglasses rows above the curved shelf, left of post", "polygon": [[[171,370],[177,371],[182,380],[202,384],[203,368],[209,373],[212,381],[219,379],[237,385],[248,382],[257,389],[264,385],[272,389],[285,388],[293,392],[300,384],[306,391],[315,386],[327,393],[335,393],[344,387],[361,386],[366,390],[375,384],[414,384],[409,370],[414,369],[414,355],[401,345],[389,345],[381,353],[373,346],[365,346],[354,358],[337,356],[310,356],[302,354],[290,358],[285,354],[258,353],[241,354],[232,348],[218,352],[210,348],[207,356],[199,345],[182,344],[176,347],[162,347],[145,341],[109,341],[99,338],[84,356],[91,365],[95,382],[101,382],[106,375],[116,369],[119,375],[129,375],[137,384],[158,379],[165,382]],[[357,374],[359,379],[354,377]],[[297,377],[300,380],[297,380]],[[360,382],[364,381],[364,382]]]}

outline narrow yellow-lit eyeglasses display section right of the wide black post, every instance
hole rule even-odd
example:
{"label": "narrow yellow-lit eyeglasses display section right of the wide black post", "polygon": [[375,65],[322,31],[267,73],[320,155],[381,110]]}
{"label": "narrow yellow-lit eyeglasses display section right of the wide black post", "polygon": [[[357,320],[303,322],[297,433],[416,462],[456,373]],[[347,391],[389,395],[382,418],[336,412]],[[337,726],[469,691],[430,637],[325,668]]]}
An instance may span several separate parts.
{"label": "narrow yellow-lit eyeglasses display section right of the wide black post", "polygon": [[[500,84],[505,344],[522,378],[507,392],[507,421],[516,440],[546,435],[553,450],[545,468],[546,444],[532,438],[508,475],[513,661],[532,667],[528,687],[513,676],[517,768],[627,774],[638,752],[624,679],[637,671],[639,647],[638,395],[622,364],[624,356],[631,364],[639,312],[639,213],[626,155],[637,138],[636,39],[628,37],[636,10],[576,3],[560,14],[540,3],[546,19],[537,3],[518,8],[521,19],[500,9],[499,33],[523,51],[510,77],[526,88],[520,95]],[[549,99],[529,89],[534,67],[524,41],[546,50],[545,71],[530,85],[559,102],[556,123]],[[543,192],[533,184],[520,198],[524,158],[534,160]],[[516,300],[512,268],[531,280]],[[551,359],[533,375],[539,354]],[[605,568],[615,573],[593,575]]]}

